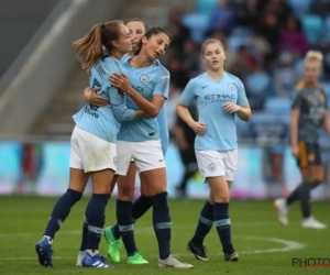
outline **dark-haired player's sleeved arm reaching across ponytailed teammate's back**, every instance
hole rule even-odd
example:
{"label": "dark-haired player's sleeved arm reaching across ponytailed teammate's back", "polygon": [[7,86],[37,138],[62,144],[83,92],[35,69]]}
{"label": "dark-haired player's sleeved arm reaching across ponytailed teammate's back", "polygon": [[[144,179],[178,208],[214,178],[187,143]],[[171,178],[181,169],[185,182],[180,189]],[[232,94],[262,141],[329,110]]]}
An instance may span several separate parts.
{"label": "dark-haired player's sleeved arm reaching across ponytailed teammate's back", "polygon": [[[168,95],[169,76],[167,79],[166,78],[160,79],[160,80],[165,80],[166,84],[164,84],[164,81],[156,81],[156,85],[155,85],[156,92],[154,92],[152,101],[148,101],[147,99],[142,97],[140,95],[140,92],[138,92],[130,85],[130,80],[124,74],[121,74],[121,75],[113,74],[112,76],[110,76],[109,79],[114,87],[117,87],[121,91],[127,92],[133,99],[133,101],[138,105],[138,107],[151,118],[157,117],[158,112],[161,111],[161,109],[165,102],[165,99],[167,98],[167,96],[165,94],[167,92],[167,95]],[[158,91],[158,88],[161,89],[161,92]]]}

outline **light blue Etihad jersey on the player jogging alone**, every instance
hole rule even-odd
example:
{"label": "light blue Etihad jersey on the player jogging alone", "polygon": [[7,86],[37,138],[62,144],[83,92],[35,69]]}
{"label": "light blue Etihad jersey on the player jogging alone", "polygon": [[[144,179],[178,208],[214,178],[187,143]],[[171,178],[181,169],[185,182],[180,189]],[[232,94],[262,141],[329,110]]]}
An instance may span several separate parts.
{"label": "light blue Etihad jersey on the player jogging alone", "polygon": [[238,147],[234,113],[223,110],[226,102],[249,106],[242,81],[224,73],[219,81],[207,73],[191,79],[179,98],[184,106],[190,106],[196,100],[199,122],[207,125],[204,135],[197,135],[196,150],[229,151]]}

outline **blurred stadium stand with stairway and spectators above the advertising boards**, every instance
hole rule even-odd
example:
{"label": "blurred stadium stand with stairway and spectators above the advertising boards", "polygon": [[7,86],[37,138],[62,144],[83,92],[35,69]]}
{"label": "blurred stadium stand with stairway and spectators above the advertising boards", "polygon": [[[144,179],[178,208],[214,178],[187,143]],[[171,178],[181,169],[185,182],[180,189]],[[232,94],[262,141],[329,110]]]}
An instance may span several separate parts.
{"label": "blurred stadium stand with stairway and spectators above the advertising boards", "polygon": [[[84,105],[82,89],[88,84],[72,43],[92,24],[118,14],[123,20],[138,16],[150,25],[167,25],[174,33],[168,58],[163,62],[172,73],[176,94],[202,68],[198,48],[210,36],[224,43],[228,70],[244,81],[253,112],[264,121],[273,124],[278,113],[288,116],[290,94],[301,76],[308,48],[326,54],[321,80],[330,94],[330,11],[323,11],[329,7],[327,1],[33,1],[37,10],[31,2],[12,9],[16,1],[1,0],[4,9],[0,20],[6,22],[1,35],[9,37],[0,46],[0,90],[4,91],[0,100],[1,134],[46,139],[70,135],[72,116]],[[183,14],[170,13],[174,9]],[[296,20],[293,29],[292,18]],[[296,47],[294,41],[287,43],[287,34],[305,40],[306,47]],[[170,98],[169,103],[174,100]],[[248,125],[238,123],[243,140],[257,140],[256,133],[251,134],[253,120]]]}

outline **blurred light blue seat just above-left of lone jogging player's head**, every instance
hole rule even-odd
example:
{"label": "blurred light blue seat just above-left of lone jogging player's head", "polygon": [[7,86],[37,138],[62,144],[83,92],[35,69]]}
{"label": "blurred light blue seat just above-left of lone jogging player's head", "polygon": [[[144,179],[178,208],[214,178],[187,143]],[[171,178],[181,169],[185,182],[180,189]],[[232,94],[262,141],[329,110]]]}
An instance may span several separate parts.
{"label": "blurred light blue seat just above-left of lone jogging player's head", "polygon": [[191,32],[191,40],[200,43],[204,40],[204,34],[209,28],[209,15],[201,13],[190,13],[183,18],[183,24]]}

